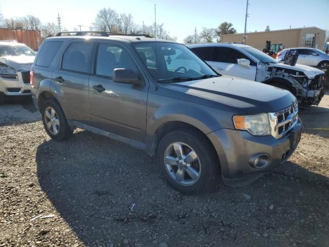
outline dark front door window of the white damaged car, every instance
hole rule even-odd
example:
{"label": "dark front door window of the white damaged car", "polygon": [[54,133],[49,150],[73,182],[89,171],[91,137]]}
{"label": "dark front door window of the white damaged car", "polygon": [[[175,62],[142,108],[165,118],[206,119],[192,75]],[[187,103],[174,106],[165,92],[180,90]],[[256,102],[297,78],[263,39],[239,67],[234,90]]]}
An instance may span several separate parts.
{"label": "dark front door window of the white damaged car", "polygon": [[256,65],[254,61],[252,61],[242,52],[229,47],[215,47],[212,53],[212,61],[214,62],[237,64],[237,59],[241,58],[248,59],[250,61],[250,65]]}

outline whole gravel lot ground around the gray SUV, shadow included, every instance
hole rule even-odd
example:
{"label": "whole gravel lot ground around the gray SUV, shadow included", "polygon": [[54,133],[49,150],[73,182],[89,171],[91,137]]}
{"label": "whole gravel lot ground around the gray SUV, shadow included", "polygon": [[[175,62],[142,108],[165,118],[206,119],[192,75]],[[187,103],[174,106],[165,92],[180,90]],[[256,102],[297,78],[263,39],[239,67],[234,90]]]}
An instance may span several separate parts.
{"label": "whole gravel lot ground around the gray SUV, shadow included", "polygon": [[154,158],[115,140],[51,140],[30,101],[1,105],[0,246],[329,246],[329,131],[314,130],[329,127],[327,95],[301,109],[288,162],[204,196],[174,191]]}

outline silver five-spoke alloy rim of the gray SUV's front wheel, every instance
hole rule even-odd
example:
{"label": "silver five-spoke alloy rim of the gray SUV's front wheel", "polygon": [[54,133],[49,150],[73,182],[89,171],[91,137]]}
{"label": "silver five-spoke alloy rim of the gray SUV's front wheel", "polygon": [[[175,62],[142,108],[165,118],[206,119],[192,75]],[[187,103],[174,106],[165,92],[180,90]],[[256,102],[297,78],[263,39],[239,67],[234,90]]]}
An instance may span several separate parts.
{"label": "silver five-spoke alloy rim of the gray SUV's front wheel", "polygon": [[201,163],[196,152],[185,143],[170,144],[164,155],[170,177],[178,184],[189,186],[200,178]]}

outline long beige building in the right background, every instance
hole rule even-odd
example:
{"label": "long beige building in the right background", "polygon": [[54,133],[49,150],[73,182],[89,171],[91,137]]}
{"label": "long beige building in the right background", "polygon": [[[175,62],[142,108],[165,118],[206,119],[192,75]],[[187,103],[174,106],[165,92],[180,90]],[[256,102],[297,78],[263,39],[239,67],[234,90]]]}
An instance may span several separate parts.
{"label": "long beige building in the right background", "polygon": [[[282,43],[284,48],[313,47],[323,49],[325,30],[317,27],[291,28],[275,31],[248,32],[246,45],[259,50],[265,48],[266,41],[271,44]],[[224,34],[221,42],[243,42],[243,33]]]}

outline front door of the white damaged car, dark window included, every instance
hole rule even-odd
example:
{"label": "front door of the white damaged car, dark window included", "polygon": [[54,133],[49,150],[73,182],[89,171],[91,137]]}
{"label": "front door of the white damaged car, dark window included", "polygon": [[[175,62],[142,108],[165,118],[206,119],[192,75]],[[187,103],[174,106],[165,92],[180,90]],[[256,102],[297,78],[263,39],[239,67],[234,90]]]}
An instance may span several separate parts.
{"label": "front door of the white damaged car, dark window included", "polygon": [[[250,66],[237,64],[237,59],[248,59]],[[255,80],[257,63],[244,55],[241,51],[230,47],[215,47],[212,51],[212,61],[209,62],[218,73],[235,76],[248,80]]]}

